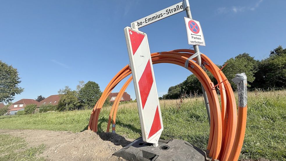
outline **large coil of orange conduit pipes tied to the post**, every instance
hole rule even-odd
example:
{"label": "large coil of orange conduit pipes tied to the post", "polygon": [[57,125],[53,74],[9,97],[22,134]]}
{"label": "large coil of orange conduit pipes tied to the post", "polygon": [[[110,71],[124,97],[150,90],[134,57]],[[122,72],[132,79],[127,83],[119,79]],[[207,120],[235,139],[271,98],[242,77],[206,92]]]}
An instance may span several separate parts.
{"label": "large coil of orange conduit pipes tied to the post", "polygon": [[[151,58],[153,64],[172,63],[184,67],[185,61],[193,54],[194,54],[193,50],[178,49],[170,52],[153,53],[151,54]],[[233,148],[234,147],[233,145],[234,143],[235,144],[240,143],[241,138],[243,141],[244,136],[241,137],[241,135],[238,135],[236,131],[241,130],[241,127],[243,127],[243,121],[246,121],[246,117],[245,118],[241,117],[241,120],[237,121],[237,109],[236,109],[235,97],[228,80],[226,79],[223,72],[207,56],[202,54],[201,58],[202,58],[202,64],[205,66],[205,68],[209,70],[219,82],[218,86],[221,94],[221,107],[220,107],[219,99],[217,97],[214,84],[210,81],[205,71],[194,62],[195,59],[193,59],[193,61],[190,60],[188,70],[190,70],[194,75],[196,75],[196,77],[202,83],[203,87],[206,90],[210,105],[211,123],[210,123],[210,133],[209,133],[209,141],[207,149],[210,150],[209,156],[211,156],[213,159],[219,158],[220,160],[229,160],[231,159],[230,155],[234,156],[233,154],[236,154],[237,152],[239,154],[241,151],[241,148],[240,150],[236,150],[235,148]],[[108,97],[109,93],[111,93],[112,89],[122,79],[124,79],[130,74],[131,70],[129,66],[125,66],[109,82],[109,84],[106,86],[106,89],[102,93],[101,98],[97,101],[91,113],[88,129],[97,132],[97,124],[98,124],[100,109],[102,108],[104,101]],[[132,77],[130,77],[126,81],[126,83],[120,90],[118,97],[114,101],[114,104],[111,108],[111,112],[109,115],[109,121],[106,131],[109,131],[112,114],[113,114],[113,124],[115,125],[116,112],[120,102],[120,98],[122,97],[125,89],[130,84],[131,81]],[[242,110],[240,110],[239,112],[241,111]],[[115,127],[113,129],[115,130]]]}

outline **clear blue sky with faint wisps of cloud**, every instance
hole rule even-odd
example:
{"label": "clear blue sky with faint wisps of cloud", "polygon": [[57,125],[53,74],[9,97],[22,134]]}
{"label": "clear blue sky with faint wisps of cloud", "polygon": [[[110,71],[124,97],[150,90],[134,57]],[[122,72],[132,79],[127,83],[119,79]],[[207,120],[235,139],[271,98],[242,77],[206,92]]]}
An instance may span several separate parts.
{"label": "clear blue sky with faint wisps of cloud", "polygon": [[[57,94],[78,81],[97,82],[103,91],[129,63],[126,26],[179,1],[1,1],[0,60],[18,69],[25,90],[16,95],[35,99]],[[278,45],[286,47],[286,1],[193,1],[193,19],[200,21],[205,47],[200,51],[223,64],[247,52],[263,59]],[[151,52],[190,48],[185,11],[140,28],[148,34]],[[159,96],[191,73],[171,64],[153,66]],[[125,80],[118,85],[118,92]],[[133,83],[127,92],[135,99]]]}

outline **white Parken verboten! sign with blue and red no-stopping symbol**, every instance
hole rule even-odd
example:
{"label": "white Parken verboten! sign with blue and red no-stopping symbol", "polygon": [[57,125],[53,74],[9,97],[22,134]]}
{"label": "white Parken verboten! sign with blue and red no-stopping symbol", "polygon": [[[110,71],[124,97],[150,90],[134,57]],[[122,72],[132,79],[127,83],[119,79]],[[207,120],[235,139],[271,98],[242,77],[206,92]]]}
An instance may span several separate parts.
{"label": "white Parken verboten! sign with blue and red no-stopping symbol", "polygon": [[188,43],[189,45],[205,45],[205,38],[202,34],[202,28],[200,27],[200,22],[185,17]]}

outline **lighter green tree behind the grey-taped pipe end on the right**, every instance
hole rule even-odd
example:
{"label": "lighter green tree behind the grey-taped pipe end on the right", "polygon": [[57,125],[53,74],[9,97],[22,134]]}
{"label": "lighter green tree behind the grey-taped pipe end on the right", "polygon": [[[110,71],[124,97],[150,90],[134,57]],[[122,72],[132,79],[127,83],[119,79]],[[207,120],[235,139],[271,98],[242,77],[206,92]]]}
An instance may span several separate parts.
{"label": "lighter green tree behind the grey-taped pipe end on the right", "polygon": [[222,69],[223,74],[229,80],[232,89],[237,89],[234,82],[230,81],[235,77],[235,74],[244,72],[247,76],[247,82],[253,82],[254,74],[257,72],[257,61],[254,57],[249,56],[248,53],[239,54],[235,58],[228,59],[223,65],[228,63]]}

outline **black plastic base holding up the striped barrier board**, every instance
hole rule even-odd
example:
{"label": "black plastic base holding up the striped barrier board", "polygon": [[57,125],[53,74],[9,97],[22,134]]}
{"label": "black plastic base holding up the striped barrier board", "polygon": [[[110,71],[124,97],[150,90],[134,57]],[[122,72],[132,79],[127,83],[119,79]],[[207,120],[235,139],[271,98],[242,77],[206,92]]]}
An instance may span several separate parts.
{"label": "black plastic base holding up the striped barrier board", "polygon": [[134,140],[113,155],[129,161],[205,161],[206,153],[184,140],[162,140],[159,146],[143,142],[142,137]]}

